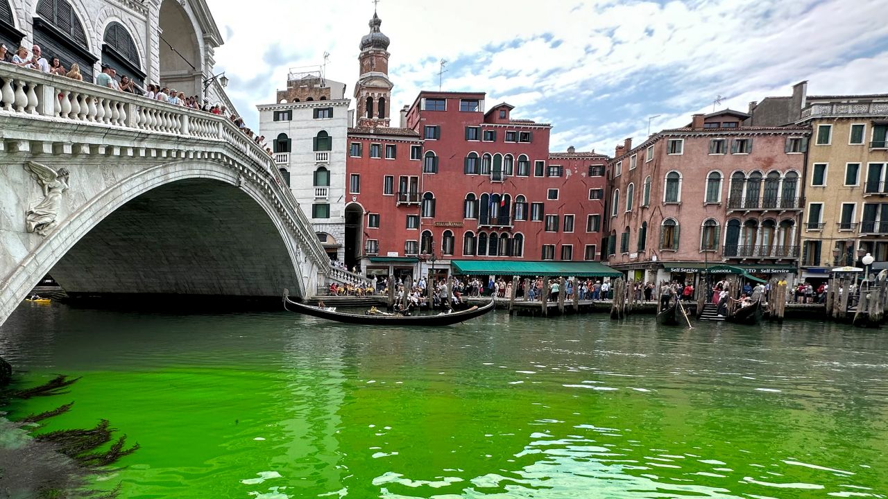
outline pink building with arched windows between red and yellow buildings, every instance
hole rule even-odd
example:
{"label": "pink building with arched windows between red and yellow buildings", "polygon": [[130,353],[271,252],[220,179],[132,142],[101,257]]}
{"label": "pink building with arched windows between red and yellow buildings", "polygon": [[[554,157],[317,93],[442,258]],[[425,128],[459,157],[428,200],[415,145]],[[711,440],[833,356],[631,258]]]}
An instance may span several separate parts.
{"label": "pink building with arched windows between red and yellow buildings", "polygon": [[707,266],[797,273],[809,129],[694,115],[608,163],[607,261],[638,281],[699,284]]}

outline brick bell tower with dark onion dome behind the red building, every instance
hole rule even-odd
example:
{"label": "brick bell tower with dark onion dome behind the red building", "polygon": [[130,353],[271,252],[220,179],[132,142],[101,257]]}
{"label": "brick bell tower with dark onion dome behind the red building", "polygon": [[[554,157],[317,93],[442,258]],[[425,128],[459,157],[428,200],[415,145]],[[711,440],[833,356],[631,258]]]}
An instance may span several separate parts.
{"label": "brick bell tower with dark onion dome behind the red building", "polygon": [[354,85],[359,127],[387,127],[392,110],[392,82],[388,79],[389,37],[379,31],[383,23],[373,10],[369,34],[361,37],[358,61],[361,75]]}

